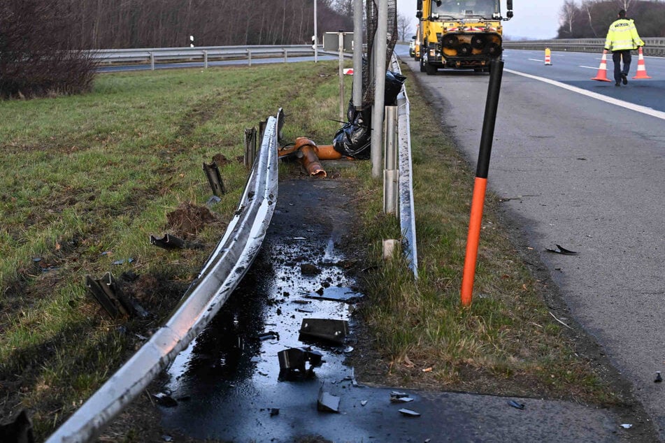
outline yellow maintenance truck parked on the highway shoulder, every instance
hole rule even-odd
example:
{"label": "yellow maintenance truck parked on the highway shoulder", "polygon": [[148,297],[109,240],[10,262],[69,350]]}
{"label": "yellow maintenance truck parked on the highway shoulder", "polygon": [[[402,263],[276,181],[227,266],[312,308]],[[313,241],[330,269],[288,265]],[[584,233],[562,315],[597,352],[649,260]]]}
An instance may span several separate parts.
{"label": "yellow maintenance truck parked on the highway shoulder", "polygon": [[420,71],[438,68],[489,71],[489,61],[501,58],[503,27],[513,17],[513,0],[417,0],[420,19]]}

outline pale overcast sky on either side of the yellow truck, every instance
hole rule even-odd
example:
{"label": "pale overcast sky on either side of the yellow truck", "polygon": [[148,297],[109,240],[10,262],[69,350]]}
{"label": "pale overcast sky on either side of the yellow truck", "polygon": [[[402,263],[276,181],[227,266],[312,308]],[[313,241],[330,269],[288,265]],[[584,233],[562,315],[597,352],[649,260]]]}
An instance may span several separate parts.
{"label": "pale overcast sky on either side of the yellow truck", "polygon": [[[415,31],[416,0],[397,0],[397,12],[413,18],[411,31]],[[513,39],[550,39],[557,36],[559,13],[564,0],[513,0],[515,17],[503,23],[503,34]],[[506,0],[501,0],[501,12],[505,15]]]}

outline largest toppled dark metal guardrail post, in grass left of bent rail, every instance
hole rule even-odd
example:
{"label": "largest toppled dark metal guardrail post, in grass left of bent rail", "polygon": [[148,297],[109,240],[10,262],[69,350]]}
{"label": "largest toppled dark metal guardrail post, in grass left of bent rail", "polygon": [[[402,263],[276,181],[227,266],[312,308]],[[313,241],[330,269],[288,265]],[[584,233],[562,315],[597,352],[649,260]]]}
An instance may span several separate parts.
{"label": "largest toppled dark metal guardrail post, in grass left of bent rail", "polygon": [[94,279],[87,275],[85,286],[112,319],[129,316],[148,317],[148,312],[134,298],[120,290],[120,286],[111,273],[104,274],[101,279]]}

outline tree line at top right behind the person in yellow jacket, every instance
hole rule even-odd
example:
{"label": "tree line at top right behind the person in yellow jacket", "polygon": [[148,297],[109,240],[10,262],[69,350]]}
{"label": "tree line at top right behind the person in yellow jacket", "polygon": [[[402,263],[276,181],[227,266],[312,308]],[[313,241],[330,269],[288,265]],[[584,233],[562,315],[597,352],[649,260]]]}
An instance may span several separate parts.
{"label": "tree line at top right behind the person in yellow jacket", "polygon": [[663,0],[566,0],[559,15],[557,38],[605,38],[620,9],[645,37],[665,37]]}

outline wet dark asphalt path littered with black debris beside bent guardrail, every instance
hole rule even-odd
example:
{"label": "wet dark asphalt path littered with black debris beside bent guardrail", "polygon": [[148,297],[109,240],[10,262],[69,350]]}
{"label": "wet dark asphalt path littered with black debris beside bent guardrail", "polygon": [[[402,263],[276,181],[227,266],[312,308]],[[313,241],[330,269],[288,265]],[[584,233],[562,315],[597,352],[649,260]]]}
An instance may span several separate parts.
{"label": "wet dark asphalt path littered with black debris beside bent guardrail", "polygon": [[[280,182],[255,263],[169,369],[165,393],[175,401],[160,407],[164,428],[225,442],[636,441],[620,411],[356,379],[345,356],[354,352],[351,312],[362,293],[348,272],[354,258],[339,247],[354,223],[350,197],[341,180]],[[348,335],[303,336],[307,319],[348,321]],[[322,361],[281,370],[278,353],[291,348]]]}

